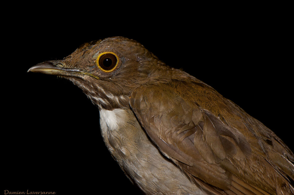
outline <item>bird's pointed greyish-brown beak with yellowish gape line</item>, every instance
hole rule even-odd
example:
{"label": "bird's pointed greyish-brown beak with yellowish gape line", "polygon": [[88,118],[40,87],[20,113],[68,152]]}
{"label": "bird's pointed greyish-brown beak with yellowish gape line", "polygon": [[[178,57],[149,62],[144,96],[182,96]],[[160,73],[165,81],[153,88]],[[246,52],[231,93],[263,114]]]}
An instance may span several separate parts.
{"label": "bird's pointed greyish-brown beak with yellowish gape line", "polygon": [[45,61],[39,63],[35,66],[32,66],[28,69],[27,72],[39,72],[43,74],[54,74],[54,75],[62,75],[62,76],[75,76],[79,77],[81,74],[88,75],[93,78],[99,79],[99,77],[90,74],[88,72],[81,71],[80,69],[70,69],[66,68],[63,63],[59,61]]}

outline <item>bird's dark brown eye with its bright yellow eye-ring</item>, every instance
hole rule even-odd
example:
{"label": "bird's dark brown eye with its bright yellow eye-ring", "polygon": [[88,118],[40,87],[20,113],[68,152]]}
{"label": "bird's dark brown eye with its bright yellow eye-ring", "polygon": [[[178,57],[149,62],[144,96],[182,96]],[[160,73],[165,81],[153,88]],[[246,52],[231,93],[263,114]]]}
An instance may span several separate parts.
{"label": "bird's dark brown eye with its bright yellow eye-ring", "polygon": [[119,57],[113,52],[100,53],[96,65],[104,72],[112,72],[119,63]]}

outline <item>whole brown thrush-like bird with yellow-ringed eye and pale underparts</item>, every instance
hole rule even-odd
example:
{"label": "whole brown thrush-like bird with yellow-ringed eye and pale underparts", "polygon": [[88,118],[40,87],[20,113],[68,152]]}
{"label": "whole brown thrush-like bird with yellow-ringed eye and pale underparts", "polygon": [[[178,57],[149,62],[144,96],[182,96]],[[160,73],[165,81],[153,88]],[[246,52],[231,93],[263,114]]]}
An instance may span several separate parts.
{"label": "whole brown thrush-like bird with yellow-ringed eye and pale underparts", "polygon": [[273,131],[136,40],[91,41],[28,72],[87,95],[107,149],[145,194],[294,194],[294,155]]}

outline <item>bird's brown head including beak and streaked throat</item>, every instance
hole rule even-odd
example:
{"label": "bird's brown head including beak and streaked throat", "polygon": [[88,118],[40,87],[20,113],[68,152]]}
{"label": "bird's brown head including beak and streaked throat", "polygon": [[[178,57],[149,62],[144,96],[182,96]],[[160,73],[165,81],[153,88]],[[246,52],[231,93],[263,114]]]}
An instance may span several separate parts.
{"label": "bird's brown head including beak and streaked throat", "polygon": [[98,108],[112,110],[128,107],[132,91],[158,80],[166,69],[169,67],[135,40],[110,37],[85,43],[63,60],[39,63],[28,72],[67,78]]}

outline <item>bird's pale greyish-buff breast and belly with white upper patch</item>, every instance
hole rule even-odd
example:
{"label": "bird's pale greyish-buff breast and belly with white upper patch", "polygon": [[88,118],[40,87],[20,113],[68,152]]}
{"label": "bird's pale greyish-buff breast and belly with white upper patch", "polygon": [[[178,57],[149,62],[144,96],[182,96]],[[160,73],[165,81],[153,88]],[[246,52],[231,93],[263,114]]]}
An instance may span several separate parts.
{"label": "bird's pale greyish-buff breast and belly with white upper patch", "polygon": [[166,160],[141,128],[131,109],[101,109],[100,127],[103,140],[114,159],[145,193],[207,194],[174,163]]}

